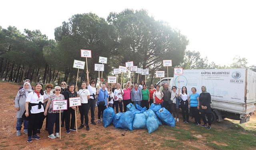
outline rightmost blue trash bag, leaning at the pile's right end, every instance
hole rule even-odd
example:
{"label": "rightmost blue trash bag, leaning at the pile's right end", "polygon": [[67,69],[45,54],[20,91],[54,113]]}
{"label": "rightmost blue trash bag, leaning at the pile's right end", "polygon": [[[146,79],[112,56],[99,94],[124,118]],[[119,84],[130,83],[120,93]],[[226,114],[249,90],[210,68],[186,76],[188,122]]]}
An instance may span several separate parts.
{"label": "rightmost blue trash bag, leaning at the pile's right end", "polygon": [[156,112],[157,116],[160,118],[162,122],[167,124],[168,126],[175,127],[175,119],[173,118],[172,114],[165,109],[164,107]]}

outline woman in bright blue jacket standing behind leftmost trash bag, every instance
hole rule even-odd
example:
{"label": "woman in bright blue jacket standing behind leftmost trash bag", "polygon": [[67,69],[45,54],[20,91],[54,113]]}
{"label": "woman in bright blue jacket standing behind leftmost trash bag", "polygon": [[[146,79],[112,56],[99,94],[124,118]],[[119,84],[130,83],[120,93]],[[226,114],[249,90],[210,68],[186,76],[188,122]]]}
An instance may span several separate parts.
{"label": "woman in bright blue jacket standing behind leftmost trash bag", "polygon": [[96,94],[98,95],[98,99],[97,99],[98,121],[97,121],[97,123],[100,123],[100,116],[103,116],[103,111],[108,106],[108,91],[106,90],[106,85],[102,84],[102,88],[100,88],[100,86],[98,86]]}

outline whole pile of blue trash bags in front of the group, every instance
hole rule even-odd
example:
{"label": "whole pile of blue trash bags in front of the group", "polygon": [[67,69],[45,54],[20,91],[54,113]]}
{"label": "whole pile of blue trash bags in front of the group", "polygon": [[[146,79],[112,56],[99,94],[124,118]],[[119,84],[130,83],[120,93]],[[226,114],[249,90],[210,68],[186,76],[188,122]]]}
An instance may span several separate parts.
{"label": "whole pile of blue trash bags in front of the group", "polygon": [[172,114],[160,104],[151,104],[149,110],[142,108],[138,104],[130,103],[126,106],[127,111],[116,113],[112,107],[104,110],[102,116],[103,126],[106,128],[111,123],[115,128],[121,129],[147,129],[148,133],[154,132],[158,126],[165,124],[175,127],[175,119]]}

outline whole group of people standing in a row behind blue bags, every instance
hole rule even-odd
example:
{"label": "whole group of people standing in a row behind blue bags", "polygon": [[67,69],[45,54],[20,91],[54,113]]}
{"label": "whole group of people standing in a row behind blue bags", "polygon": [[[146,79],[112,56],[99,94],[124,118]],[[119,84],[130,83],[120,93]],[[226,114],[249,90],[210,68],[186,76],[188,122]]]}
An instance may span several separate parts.
{"label": "whole group of people standing in a row behind blue bags", "polygon": [[[60,137],[60,115],[59,111],[53,110],[52,100],[68,100],[72,97],[81,97],[81,106],[78,106],[80,112],[81,125],[78,129],[82,129],[86,126],[86,130],[89,128],[88,112],[91,112],[91,124],[96,125],[94,121],[94,110],[98,107],[98,121],[103,115],[103,111],[107,107],[112,107],[116,110],[116,113],[126,112],[126,106],[129,103],[133,103],[149,109],[149,106],[159,104],[166,108],[173,114],[175,120],[179,122],[179,108],[182,110],[182,117],[184,123],[189,123],[188,109],[192,112],[195,118],[195,124],[200,125],[200,115],[204,121],[203,127],[207,129],[211,128],[211,108],[210,101],[211,96],[206,92],[206,87],[202,86],[202,93],[199,95],[196,93],[196,88],[192,88],[192,94],[188,94],[186,87],[182,87],[182,92],[177,91],[176,86],[169,88],[168,84],[163,84],[163,87],[150,85],[148,89],[146,82],[142,80],[140,85],[138,83],[131,84],[127,82],[122,89],[119,83],[112,84],[100,83],[96,87],[95,80],[89,80],[89,72],[86,71],[87,82],[82,82],[80,90],[74,84],[67,86],[66,82],[61,82],[60,86],[53,87],[53,84],[46,84],[45,90],[42,90],[43,85],[36,83],[33,90],[30,85],[30,80],[25,80],[23,86],[20,87],[18,93],[14,99],[16,108],[16,135],[21,135],[22,123],[24,126],[23,132],[28,134],[27,142],[32,142],[33,139],[39,140],[40,137],[37,133],[40,133],[44,120],[46,120],[46,130],[48,130],[49,138],[55,139]],[[54,88],[54,91],[52,89]],[[69,103],[69,100],[67,101]],[[61,127],[66,128],[66,133],[70,131],[76,131],[75,128],[75,111],[77,107],[69,107],[67,110],[61,110]],[[206,118],[208,117],[208,126],[206,125]],[[70,117],[71,116],[71,117]],[[46,118],[46,119],[45,119]],[[71,119],[71,120],[70,120]],[[55,124],[55,134],[53,132]]]}

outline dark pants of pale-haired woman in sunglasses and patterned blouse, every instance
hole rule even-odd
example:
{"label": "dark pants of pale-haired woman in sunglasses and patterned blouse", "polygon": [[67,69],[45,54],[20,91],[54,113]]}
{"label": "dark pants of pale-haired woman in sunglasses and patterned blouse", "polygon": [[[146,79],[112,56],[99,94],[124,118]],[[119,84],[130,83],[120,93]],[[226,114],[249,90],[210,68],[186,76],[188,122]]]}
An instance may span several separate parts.
{"label": "dark pants of pale-haired woman in sunglasses and patterned blouse", "polygon": [[60,133],[60,113],[49,113],[48,116],[48,133],[53,134],[53,127],[55,124],[55,133]]}

